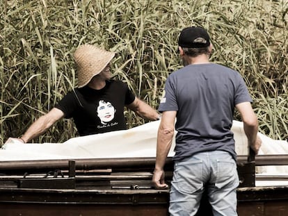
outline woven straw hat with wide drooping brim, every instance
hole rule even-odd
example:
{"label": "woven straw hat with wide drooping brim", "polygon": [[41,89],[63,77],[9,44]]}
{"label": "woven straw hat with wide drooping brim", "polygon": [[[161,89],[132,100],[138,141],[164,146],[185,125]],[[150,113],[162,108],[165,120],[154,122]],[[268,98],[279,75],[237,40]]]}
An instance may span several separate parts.
{"label": "woven straw hat with wide drooping brim", "polygon": [[87,85],[93,76],[102,72],[114,56],[115,53],[99,49],[93,45],[81,45],[74,52],[78,72],[78,87]]}

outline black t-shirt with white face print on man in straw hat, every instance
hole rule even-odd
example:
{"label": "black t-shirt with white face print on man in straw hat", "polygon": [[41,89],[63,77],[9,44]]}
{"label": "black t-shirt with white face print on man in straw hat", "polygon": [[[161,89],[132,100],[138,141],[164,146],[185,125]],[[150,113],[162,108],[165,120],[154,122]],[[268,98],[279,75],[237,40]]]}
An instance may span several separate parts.
{"label": "black t-shirt with white face print on man in straw hat", "polygon": [[125,83],[106,81],[101,90],[84,86],[68,92],[55,107],[74,119],[79,135],[91,135],[127,129],[124,107],[134,100]]}

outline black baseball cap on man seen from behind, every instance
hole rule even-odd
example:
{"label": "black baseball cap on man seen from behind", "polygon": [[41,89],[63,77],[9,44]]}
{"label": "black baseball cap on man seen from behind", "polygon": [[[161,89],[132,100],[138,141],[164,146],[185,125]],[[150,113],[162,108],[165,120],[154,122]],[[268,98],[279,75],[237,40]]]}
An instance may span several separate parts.
{"label": "black baseball cap on man seen from behind", "polygon": [[207,31],[202,27],[188,27],[184,28],[178,40],[179,47],[186,48],[202,48],[209,47],[210,37]]}

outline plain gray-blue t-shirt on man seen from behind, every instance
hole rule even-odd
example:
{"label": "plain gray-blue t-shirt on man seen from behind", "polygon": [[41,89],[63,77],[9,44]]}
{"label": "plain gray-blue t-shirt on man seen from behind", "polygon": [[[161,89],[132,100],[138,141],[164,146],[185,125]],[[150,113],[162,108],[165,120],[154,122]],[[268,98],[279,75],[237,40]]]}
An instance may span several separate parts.
{"label": "plain gray-blue t-shirt on man seen from behind", "polygon": [[159,112],[177,111],[174,160],[222,150],[237,159],[232,119],[238,103],[252,102],[240,74],[214,63],[187,65],[168,76]]}

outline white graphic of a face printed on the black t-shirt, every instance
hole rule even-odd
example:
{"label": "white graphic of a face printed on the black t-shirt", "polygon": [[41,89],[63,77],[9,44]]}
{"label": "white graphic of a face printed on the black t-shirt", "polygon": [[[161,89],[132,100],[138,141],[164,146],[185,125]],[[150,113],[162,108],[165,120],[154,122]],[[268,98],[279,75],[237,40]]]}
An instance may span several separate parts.
{"label": "white graphic of a face printed on the black t-shirt", "polygon": [[99,106],[97,107],[97,114],[102,124],[107,124],[111,122],[114,118],[115,108],[110,102],[99,101]]}

